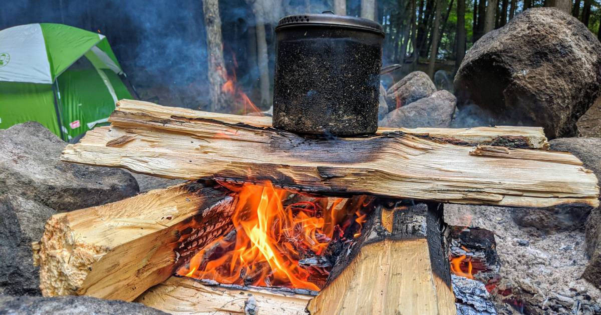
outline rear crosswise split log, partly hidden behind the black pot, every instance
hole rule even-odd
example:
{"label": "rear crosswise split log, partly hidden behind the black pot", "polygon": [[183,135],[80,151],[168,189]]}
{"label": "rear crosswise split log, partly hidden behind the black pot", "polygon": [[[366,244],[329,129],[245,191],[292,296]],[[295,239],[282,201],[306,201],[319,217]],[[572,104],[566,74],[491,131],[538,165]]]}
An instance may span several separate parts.
{"label": "rear crosswise split log, partly hidden behind the black pot", "polygon": [[[272,126],[272,118],[268,116],[240,116],[231,114],[218,114],[215,112],[194,111],[192,109],[160,106],[140,100],[120,100],[117,102],[119,111],[139,112],[157,118],[171,118],[171,116],[186,118],[209,118],[231,124],[249,124],[255,127]],[[390,132],[403,132],[409,135],[431,139],[437,142],[446,142],[457,145],[473,147],[478,144],[498,145],[514,148],[540,148],[549,149],[545,132],[541,127],[473,127],[473,128],[387,128],[380,127],[378,135]]]}

